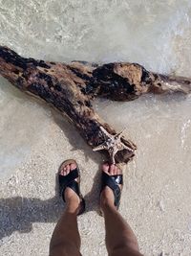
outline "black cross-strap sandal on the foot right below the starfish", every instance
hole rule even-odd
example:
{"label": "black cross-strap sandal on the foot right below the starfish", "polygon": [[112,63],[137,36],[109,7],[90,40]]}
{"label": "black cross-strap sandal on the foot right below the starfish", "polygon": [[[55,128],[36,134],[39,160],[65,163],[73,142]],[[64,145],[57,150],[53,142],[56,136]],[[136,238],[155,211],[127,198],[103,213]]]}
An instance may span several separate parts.
{"label": "black cross-strap sandal on the foot right below the starfish", "polygon": [[114,204],[117,207],[117,210],[120,204],[120,197],[122,191],[122,187],[120,188],[119,185],[123,186],[123,175],[108,175],[102,171],[101,192],[106,186],[112,189],[115,198]]}

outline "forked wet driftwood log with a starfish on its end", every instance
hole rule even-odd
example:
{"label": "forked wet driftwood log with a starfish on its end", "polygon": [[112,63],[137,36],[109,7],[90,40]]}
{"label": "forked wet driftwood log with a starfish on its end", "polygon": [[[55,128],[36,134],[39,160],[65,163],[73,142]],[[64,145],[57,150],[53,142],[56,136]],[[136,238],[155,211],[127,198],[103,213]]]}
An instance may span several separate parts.
{"label": "forked wet driftwood log with a starfish on its end", "polygon": [[58,63],[22,58],[4,46],[0,75],[67,115],[92,148],[105,149],[117,163],[127,163],[137,147],[96,114],[91,103],[96,97],[132,101],[145,93],[191,92],[191,79],[149,72],[137,63]]}

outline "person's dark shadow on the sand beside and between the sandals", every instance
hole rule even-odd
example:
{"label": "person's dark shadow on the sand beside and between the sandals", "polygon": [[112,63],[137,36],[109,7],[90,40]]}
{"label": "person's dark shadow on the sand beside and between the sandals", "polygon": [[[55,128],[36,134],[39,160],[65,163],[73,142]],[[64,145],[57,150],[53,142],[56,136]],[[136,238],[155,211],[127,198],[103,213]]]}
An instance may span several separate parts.
{"label": "person's dark shadow on the sand beside and between the sandals", "polygon": [[[94,186],[84,198],[86,212],[98,211],[99,172],[94,178]],[[14,231],[29,233],[33,222],[57,222],[64,209],[62,199],[57,188],[53,198],[42,200],[39,198],[1,198],[0,199],[0,240],[11,236]],[[82,218],[86,218],[83,216]]]}

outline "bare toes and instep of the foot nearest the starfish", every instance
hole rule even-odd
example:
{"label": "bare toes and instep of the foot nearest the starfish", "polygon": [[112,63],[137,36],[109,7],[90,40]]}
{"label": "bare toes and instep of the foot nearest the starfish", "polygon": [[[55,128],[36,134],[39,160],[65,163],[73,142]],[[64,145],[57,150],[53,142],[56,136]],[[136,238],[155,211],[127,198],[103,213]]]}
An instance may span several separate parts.
{"label": "bare toes and instep of the foot nearest the starfish", "polygon": [[[102,165],[102,172],[107,175],[122,175],[122,171],[116,165],[109,165],[108,163]],[[118,186],[122,189],[122,185]],[[100,207],[103,208],[105,205],[115,207],[114,201],[115,198],[112,189],[106,186],[100,194]]]}

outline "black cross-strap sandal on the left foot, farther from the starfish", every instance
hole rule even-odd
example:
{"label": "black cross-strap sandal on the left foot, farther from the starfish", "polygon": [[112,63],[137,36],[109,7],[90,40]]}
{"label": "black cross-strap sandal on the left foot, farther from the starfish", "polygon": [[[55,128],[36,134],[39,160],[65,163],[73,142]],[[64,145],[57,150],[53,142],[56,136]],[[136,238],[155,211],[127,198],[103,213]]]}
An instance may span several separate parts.
{"label": "black cross-strap sandal on the left foot, farther from the starfish", "polygon": [[[76,168],[72,172],[70,172],[69,175],[65,175],[65,176],[60,175],[61,169],[64,166],[67,166],[69,164],[75,164]],[[75,178],[78,178],[78,182],[75,180]],[[58,182],[59,182],[60,197],[63,198],[64,202],[65,202],[64,192],[66,188],[71,188],[72,190],[74,190],[76,195],[80,198],[80,209],[77,215],[83,214],[86,206],[85,206],[85,200],[80,193],[80,172],[79,172],[77,163],[73,159],[66,160],[60,165],[59,171],[58,171]]]}

